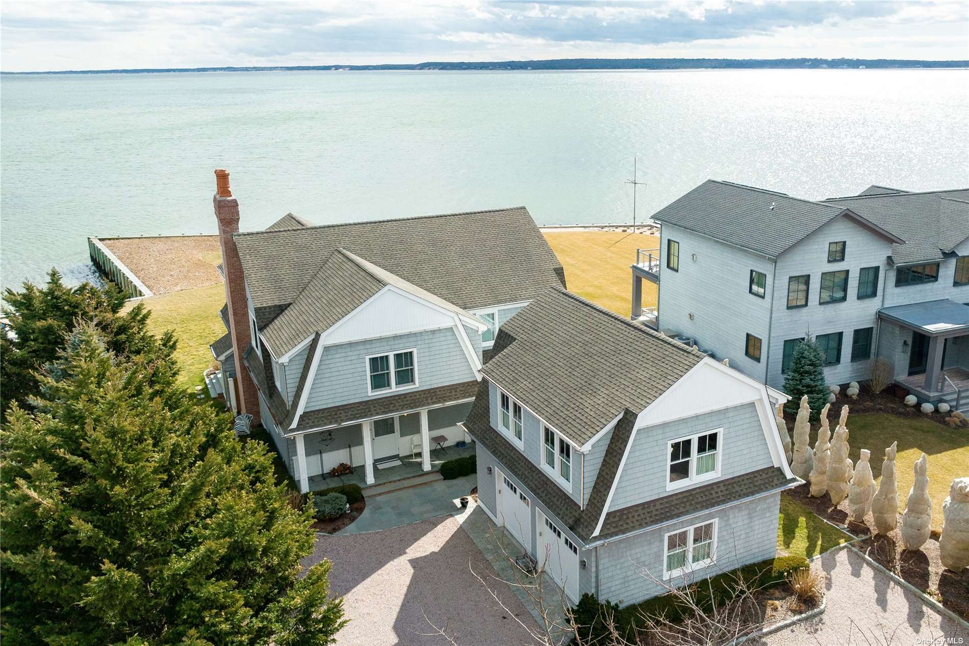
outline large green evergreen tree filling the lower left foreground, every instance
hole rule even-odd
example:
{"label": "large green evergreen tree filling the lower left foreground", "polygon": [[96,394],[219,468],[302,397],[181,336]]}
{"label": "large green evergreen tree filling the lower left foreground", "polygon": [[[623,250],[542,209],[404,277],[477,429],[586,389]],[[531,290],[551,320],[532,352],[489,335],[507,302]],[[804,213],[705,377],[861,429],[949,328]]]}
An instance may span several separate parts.
{"label": "large green evergreen tree filling the lower left foreground", "polygon": [[2,641],[332,643],[342,599],[327,562],[300,567],[310,510],[287,504],[266,445],[100,327],[75,328],[0,428]]}

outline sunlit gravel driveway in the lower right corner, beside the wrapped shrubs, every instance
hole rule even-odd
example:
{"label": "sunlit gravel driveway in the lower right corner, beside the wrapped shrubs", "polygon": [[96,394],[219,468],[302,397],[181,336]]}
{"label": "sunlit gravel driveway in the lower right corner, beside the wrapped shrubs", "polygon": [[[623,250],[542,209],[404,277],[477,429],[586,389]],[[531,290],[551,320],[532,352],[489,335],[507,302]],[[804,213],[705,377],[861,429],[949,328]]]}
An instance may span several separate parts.
{"label": "sunlit gravel driveway in the lower right corner, beside the wrapped shrubs", "polygon": [[829,577],[824,614],[768,635],[761,643],[909,646],[940,637],[942,641],[935,643],[945,644],[949,637],[951,644],[969,644],[969,630],[937,613],[852,550],[828,552],[820,561]]}

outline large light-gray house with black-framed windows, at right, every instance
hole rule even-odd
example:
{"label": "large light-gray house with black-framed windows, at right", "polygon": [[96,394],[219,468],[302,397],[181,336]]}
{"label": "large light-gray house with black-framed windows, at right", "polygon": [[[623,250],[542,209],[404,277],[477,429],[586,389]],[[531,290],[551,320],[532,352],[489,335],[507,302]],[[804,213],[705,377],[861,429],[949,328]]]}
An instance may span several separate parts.
{"label": "large light-gray house with black-framed windows, at right", "polygon": [[[778,388],[810,331],[830,384],[882,358],[922,402],[969,409],[969,189],[812,201],[711,179],[653,219],[634,318]],[[657,310],[641,310],[642,280]]]}

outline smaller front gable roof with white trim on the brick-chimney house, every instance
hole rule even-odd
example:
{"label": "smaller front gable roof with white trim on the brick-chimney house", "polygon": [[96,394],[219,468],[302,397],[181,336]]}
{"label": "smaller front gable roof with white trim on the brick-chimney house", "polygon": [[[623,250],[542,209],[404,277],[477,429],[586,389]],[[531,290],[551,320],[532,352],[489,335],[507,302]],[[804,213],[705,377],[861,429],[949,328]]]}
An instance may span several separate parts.
{"label": "smaller front gable roof with white trim on the brick-chimney house", "polygon": [[326,332],[388,285],[456,314],[475,318],[400,276],[392,275],[346,249],[337,248],[299,293],[293,305],[266,326],[263,338],[280,357],[310,335]]}

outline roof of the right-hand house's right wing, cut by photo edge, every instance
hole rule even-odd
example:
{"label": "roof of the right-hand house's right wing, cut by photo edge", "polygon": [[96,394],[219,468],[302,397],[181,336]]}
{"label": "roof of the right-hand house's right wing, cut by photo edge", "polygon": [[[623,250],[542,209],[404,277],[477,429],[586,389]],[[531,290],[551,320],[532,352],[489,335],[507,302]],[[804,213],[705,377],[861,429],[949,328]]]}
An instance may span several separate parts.
{"label": "roof of the right-hand house's right wing, cut by photo edge", "polygon": [[[969,237],[965,200],[969,200],[969,189],[860,195],[833,198],[825,204],[851,209],[905,241],[891,245],[891,259],[904,265],[942,260],[940,249],[952,250]],[[953,238],[959,240],[950,246]]]}

